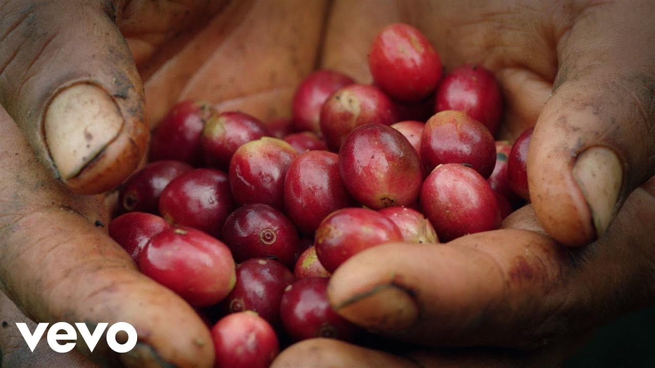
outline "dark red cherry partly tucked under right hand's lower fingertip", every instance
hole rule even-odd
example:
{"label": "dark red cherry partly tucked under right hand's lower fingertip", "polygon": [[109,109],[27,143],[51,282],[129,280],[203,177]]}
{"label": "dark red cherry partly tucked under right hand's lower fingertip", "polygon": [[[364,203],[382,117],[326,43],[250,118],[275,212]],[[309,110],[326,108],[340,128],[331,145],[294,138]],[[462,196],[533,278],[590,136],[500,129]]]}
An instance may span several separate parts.
{"label": "dark red cherry partly tucked under right hand's lower fingertip", "polygon": [[328,278],[303,278],[289,285],[282,295],[280,316],[293,340],[329,337],[352,340],[357,328],[341,318],[327,301]]}

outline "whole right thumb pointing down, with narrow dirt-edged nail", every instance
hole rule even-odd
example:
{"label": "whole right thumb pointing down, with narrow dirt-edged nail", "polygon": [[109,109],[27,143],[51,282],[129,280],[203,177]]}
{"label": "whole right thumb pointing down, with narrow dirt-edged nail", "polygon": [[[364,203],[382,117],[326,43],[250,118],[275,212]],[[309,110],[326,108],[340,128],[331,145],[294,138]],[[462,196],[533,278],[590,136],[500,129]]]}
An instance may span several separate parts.
{"label": "whole right thumb pointing down, with narrow dirt-edged nail", "polygon": [[655,3],[583,10],[559,41],[555,92],[534,128],[530,197],[569,246],[603,235],[627,195],[655,174]]}

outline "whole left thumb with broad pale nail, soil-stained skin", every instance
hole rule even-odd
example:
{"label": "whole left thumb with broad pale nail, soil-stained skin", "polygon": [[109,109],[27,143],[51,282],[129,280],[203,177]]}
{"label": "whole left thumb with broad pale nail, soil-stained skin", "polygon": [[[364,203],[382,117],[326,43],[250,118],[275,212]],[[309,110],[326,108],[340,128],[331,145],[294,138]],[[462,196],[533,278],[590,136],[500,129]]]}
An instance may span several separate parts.
{"label": "whole left thumb with broad pale nail, soil-stained skin", "polygon": [[0,1],[0,103],[37,157],[77,193],[136,168],[143,86],[109,1]]}

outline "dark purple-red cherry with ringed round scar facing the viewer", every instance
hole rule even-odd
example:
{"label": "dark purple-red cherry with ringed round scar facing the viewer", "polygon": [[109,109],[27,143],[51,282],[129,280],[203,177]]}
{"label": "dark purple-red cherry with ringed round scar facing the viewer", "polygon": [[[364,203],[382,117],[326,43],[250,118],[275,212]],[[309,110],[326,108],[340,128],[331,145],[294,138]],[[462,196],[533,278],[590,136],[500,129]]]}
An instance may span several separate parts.
{"label": "dark purple-red cherry with ringed round scar facing the viewer", "polygon": [[299,249],[298,232],[284,213],[263,203],[244,204],[225,220],[221,239],[236,262],[276,259],[293,267]]}

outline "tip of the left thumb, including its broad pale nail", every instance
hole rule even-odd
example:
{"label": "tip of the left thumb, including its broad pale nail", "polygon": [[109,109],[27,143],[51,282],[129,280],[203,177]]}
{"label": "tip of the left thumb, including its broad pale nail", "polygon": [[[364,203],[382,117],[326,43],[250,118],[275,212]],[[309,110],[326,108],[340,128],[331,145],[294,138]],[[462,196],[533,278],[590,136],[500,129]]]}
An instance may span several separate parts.
{"label": "tip of the left thumb, including its broad pale nail", "polygon": [[149,138],[143,116],[124,114],[106,90],[91,83],[58,92],[43,130],[56,177],[82,194],[117,187],[136,169]]}

